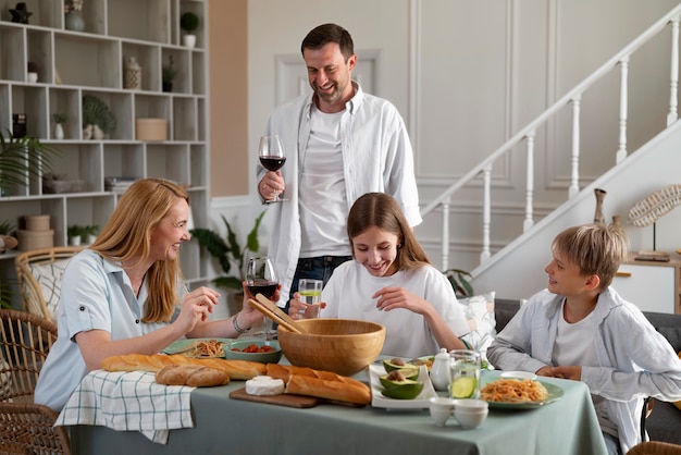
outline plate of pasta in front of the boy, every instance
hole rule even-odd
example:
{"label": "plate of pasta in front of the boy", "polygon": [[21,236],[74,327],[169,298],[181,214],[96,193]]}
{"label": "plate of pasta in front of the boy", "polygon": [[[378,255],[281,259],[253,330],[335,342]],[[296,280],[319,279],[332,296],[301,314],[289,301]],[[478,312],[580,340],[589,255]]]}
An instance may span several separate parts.
{"label": "plate of pasta in front of the boy", "polygon": [[492,408],[531,409],[560,399],[562,389],[549,382],[500,378],[483,383],[480,397]]}

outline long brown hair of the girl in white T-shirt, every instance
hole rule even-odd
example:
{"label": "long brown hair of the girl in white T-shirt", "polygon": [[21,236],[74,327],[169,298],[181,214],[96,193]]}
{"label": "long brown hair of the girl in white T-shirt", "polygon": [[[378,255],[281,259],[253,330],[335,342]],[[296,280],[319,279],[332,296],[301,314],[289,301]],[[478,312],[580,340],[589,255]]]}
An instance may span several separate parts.
{"label": "long brown hair of the girl in white T-shirt", "polygon": [[367,193],[360,196],[350,209],[347,224],[352,256],[355,256],[352,238],[370,228],[379,228],[381,231],[397,235],[401,241],[401,245],[398,244],[397,257],[395,258],[398,270],[412,270],[431,263],[425,250],[413,235],[399,205],[391,195]]}

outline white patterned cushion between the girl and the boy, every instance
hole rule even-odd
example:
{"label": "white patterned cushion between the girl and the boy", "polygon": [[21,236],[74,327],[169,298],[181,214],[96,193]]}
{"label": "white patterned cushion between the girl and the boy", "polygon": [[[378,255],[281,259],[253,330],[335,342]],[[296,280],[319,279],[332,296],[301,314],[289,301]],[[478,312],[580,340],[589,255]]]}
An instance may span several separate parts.
{"label": "white patterned cushion between the girl and the boy", "polygon": [[466,322],[471,331],[463,340],[475,351],[486,358],[487,347],[496,335],[496,320],[494,318],[494,294],[474,295],[472,297],[457,299]]}

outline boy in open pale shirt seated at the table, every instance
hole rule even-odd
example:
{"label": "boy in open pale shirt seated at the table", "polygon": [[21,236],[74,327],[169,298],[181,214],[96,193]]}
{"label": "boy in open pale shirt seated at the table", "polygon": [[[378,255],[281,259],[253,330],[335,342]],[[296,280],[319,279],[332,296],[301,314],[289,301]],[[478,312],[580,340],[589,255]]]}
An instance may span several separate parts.
{"label": "boy in open pale shirt seated at the table", "polygon": [[487,349],[502,370],[585,382],[609,454],[641,442],[643,398],[681,398],[681,360],[641,310],[610,287],[627,257],[616,224],[585,224],[558,234],[532,296]]}

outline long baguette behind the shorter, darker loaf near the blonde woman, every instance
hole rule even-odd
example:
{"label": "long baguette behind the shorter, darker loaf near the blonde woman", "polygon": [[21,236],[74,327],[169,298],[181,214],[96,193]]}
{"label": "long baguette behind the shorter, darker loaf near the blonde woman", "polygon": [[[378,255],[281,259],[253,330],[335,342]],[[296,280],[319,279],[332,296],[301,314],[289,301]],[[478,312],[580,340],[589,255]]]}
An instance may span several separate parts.
{"label": "long baguette behind the shorter, darker loaf near the blonde woman", "polygon": [[231,380],[247,380],[265,373],[265,366],[257,361],[225,360],[220,358],[191,358],[165,354],[126,354],[106,358],[101,367],[107,371],[157,372],[171,365],[194,365],[214,368],[227,373]]}

